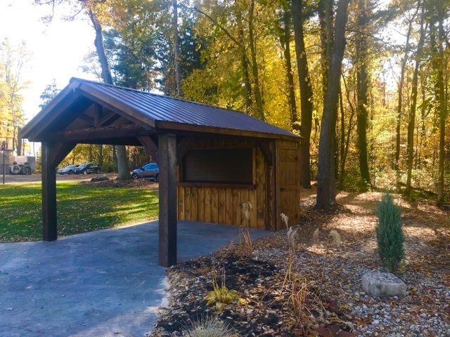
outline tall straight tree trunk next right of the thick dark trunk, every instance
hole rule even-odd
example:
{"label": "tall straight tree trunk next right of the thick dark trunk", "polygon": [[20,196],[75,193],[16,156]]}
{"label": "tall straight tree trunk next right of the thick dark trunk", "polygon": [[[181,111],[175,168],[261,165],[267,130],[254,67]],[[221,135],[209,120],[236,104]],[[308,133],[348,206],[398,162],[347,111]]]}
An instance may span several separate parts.
{"label": "tall straight tree trunk next right of the thick dark trunk", "polygon": [[367,26],[368,26],[368,4],[367,0],[359,0],[357,25],[361,34],[356,34],[356,91],[358,104],[356,105],[356,121],[358,131],[358,150],[359,150],[359,172],[363,185],[367,188],[371,185],[371,176],[368,169],[367,154],[367,106],[368,106],[368,44],[367,44]]}

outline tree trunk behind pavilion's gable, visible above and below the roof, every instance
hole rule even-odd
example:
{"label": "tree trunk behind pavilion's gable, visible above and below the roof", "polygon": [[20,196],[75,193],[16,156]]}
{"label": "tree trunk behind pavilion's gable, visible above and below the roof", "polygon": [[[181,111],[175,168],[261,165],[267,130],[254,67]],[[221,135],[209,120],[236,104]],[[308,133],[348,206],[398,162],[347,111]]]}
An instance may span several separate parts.
{"label": "tree trunk behind pavilion's gable, visible above and below the roof", "polygon": [[[113,84],[113,76],[111,75],[110,66],[108,64],[108,58],[106,58],[105,47],[103,46],[103,32],[100,22],[98,22],[96,15],[93,11],[89,11],[89,18],[91,18],[92,25],[96,31],[96,39],[94,45],[98,55],[98,60],[101,65],[101,78],[106,84]],[[129,176],[129,164],[126,156],[127,150],[124,145],[116,145],[117,150],[117,178],[119,180],[127,180]],[[125,154],[125,155],[124,155]]]}

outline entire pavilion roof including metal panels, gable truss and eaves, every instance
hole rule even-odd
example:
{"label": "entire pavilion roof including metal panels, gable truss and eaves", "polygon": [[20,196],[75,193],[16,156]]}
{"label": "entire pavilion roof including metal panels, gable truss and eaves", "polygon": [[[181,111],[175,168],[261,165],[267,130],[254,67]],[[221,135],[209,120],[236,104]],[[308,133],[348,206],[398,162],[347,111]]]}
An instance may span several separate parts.
{"label": "entire pavilion roof including metal panels, gable truss and eaves", "polygon": [[[227,119],[233,128],[227,127]],[[239,123],[242,128],[236,126]],[[80,79],[72,79],[21,136],[35,142],[141,145],[140,136],[162,133],[300,141],[293,133],[241,112]]]}

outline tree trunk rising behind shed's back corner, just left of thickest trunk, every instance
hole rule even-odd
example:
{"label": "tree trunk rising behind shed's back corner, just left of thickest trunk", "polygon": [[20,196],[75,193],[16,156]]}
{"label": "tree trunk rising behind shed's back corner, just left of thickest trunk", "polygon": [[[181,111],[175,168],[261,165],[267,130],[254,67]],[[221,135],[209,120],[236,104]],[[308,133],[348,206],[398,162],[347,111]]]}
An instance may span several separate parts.
{"label": "tree trunk rising behind shed's back corner, just left of thickest trunk", "polygon": [[311,80],[309,78],[307,53],[304,49],[303,32],[303,0],[292,0],[293,25],[295,36],[295,54],[297,56],[297,72],[300,83],[300,106],[302,117],[300,126],[300,136],[302,139],[300,180],[303,187],[311,186],[311,167],[309,144],[311,142],[313,94]]}

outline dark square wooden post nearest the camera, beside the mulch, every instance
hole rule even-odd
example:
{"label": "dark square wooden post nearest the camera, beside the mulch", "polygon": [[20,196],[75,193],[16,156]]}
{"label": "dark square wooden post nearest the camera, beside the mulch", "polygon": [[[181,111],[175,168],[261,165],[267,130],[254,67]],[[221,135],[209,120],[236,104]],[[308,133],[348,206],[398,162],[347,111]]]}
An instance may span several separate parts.
{"label": "dark square wooden post nearest the camera, beside the mulch", "polygon": [[176,136],[158,136],[160,166],[159,262],[176,264]]}

